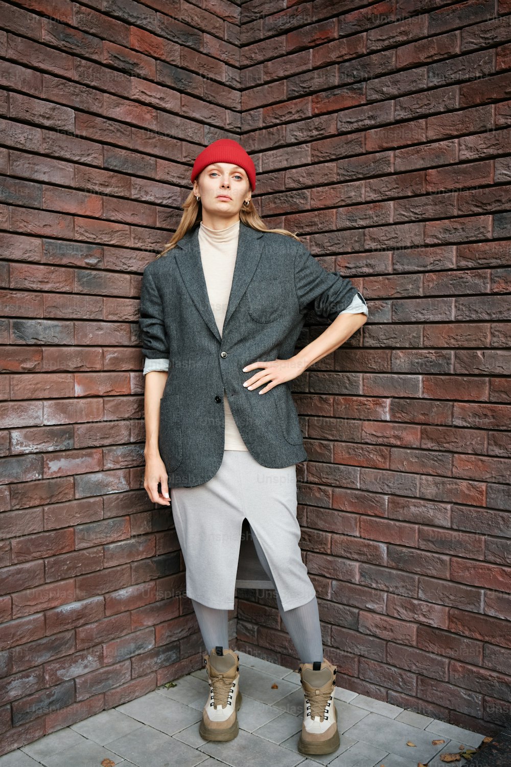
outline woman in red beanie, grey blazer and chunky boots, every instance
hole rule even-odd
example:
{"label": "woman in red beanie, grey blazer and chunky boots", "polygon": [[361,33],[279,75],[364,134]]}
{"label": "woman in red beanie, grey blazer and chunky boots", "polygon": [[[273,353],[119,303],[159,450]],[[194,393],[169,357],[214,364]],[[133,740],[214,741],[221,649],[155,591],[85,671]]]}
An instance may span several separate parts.
{"label": "woman in red beanie, grey blazer and chunky boots", "polygon": [[[228,610],[246,517],[302,661],[298,748],[330,753],[339,746],[336,668],[323,659],[316,591],[301,557],[296,463],[307,455],[288,382],[346,341],[368,310],[351,281],[321,268],[296,235],[266,228],[251,202],[254,163],[237,141],[206,147],[191,180],[175,235],[144,271],[140,328],[144,487],[153,502],[172,501],[186,594],[209,650],[199,731],[212,740],[238,732]],[[310,308],[332,324],[293,354]]]}

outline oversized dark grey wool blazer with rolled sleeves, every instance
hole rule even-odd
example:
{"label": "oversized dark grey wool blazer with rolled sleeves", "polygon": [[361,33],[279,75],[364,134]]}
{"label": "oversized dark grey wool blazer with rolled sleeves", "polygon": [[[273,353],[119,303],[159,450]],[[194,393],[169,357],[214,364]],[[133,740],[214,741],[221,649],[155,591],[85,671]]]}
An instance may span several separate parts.
{"label": "oversized dark grey wool blazer with rolled sleeves", "polygon": [[[193,487],[215,476],[224,456],[223,397],[250,453],[281,468],[308,458],[290,382],[265,394],[243,386],[252,362],[288,359],[307,311],[333,321],[363,296],[338,272],[327,272],[301,242],[240,222],[234,275],[222,334],[211,310],[198,224],[142,275],[142,354],[169,358],[160,400],[159,452],[169,487]],[[365,301],[364,301],[365,303]]]}

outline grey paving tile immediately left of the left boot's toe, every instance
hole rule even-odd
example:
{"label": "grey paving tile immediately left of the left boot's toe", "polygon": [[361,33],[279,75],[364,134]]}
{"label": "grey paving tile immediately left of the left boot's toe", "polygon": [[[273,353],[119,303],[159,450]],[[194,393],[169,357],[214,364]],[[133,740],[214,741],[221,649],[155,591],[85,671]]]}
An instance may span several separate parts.
{"label": "grey paving tile immediately left of the left boot's toe", "polygon": [[166,735],[174,735],[175,732],[200,722],[202,718],[197,709],[182,706],[181,703],[156,692],[147,693],[136,700],[130,700],[129,703],[116,706],[116,711],[132,716],[138,722],[150,725],[153,729],[159,729]]}

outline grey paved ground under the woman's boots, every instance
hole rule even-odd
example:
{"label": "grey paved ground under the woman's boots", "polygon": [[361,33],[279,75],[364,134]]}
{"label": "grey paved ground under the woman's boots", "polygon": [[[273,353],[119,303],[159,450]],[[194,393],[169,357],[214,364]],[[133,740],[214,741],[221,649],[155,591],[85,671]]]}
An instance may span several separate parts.
{"label": "grey paved ground under the woman's boots", "polygon": [[[247,653],[239,656],[240,732],[230,742],[205,741],[198,734],[209,693],[200,669],[175,680],[175,687],[159,687],[0,756],[0,767],[444,767],[442,752],[477,748],[484,737],[337,687],[339,749],[305,757],[296,749],[303,719],[300,674]],[[435,739],[445,742],[433,746]],[[470,765],[465,759],[455,763]]]}

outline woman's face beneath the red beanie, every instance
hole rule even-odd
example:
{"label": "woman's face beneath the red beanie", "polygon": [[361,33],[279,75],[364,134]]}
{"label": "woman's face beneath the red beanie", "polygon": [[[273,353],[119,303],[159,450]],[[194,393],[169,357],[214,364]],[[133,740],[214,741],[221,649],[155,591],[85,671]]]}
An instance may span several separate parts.
{"label": "woman's face beneath the red beanie", "polygon": [[[202,209],[211,216],[235,216],[244,200],[251,199],[251,185],[243,168],[231,163],[211,163],[193,183]],[[245,206],[247,207],[247,206]]]}

